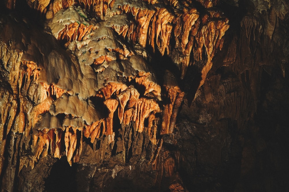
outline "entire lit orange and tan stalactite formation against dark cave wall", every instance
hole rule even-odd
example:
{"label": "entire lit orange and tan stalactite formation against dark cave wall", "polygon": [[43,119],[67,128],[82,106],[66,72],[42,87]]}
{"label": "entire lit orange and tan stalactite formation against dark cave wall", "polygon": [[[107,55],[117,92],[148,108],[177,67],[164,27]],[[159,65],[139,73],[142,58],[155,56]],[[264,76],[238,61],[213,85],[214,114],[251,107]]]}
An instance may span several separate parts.
{"label": "entire lit orange and tan stalactite formation against dark cave wall", "polygon": [[[168,9],[168,4],[174,6]],[[205,8],[213,5],[211,1],[201,4]],[[83,139],[90,138],[92,145],[95,140],[101,142],[101,150],[104,150],[99,152],[101,160],[107,158],[105,154],[112,154],[115,144],[127,146],[125,159],[132,158],[130,150],[136,155],[143,153],[136,146],[159,142],[151,163],[161,172],[161,177],[173,177],[175,158],[162,149],[162,136],[174,133],[184,92],[169,71],[165,72],[163,86],[159,85],[147,63],[150,56],[145,49],[152,48],[162,56],[172,51],[180,53],[180,62],[176,64],[182,70],[182,77],[192,63],[192,56],[196,60],[204,59],[202,51],[205,49],[207,64],[202,69],[202,84],[211,69],[216,49],[222,47],[228,20],[210,10],[200,16],[189,1],[38,0],[30,5],[49,19],[48,34],[45,34],[45,38],[50,38],[47,45],[43,46],[42,37],[26,35],[25,31],[18,34],[22,39],[13,39],[6,32],[4,38],[5,42],[15,41],[17,54],[20,53],[14,54],[17,65],[12,65],[11,74],[15,79],[12,75],[9,79],[14,82],[10,83],[13,99],[18,96],[21,106],[30,106],[19,107],[19,111],[6,109],[11,118],[19,122],[17,131],[25,132],[27,150],[29,133],[33,132],[33,155],[20,154],[19,172],[24,166],[34,168],[49,154],[61,158],[64,151],[72,166],[80,161]],[[93,10],[100,19],[91,18],[84,9],[76,7],[78,5]],[[67,50],[58,47],[56,41]],[[175,44],[171,45],[172,41]],[[5,48],[10,51],[4,47],[4,52]],[[6,55],[2,54],[1,58]],[[22,85],[29,88],[30,100],[21,95]],[[15,102],[14,109],[18,103]],[[6,116],[2,119],[7,122],[8,113],[3,114],[1,118]],[[114,122],[116,118],[119,123]],[[10,128],[11,122],[8,121]],[[124,142],[122,134],[127,131],[128,140]],[[1,143],[3,146],[5,143]]]}

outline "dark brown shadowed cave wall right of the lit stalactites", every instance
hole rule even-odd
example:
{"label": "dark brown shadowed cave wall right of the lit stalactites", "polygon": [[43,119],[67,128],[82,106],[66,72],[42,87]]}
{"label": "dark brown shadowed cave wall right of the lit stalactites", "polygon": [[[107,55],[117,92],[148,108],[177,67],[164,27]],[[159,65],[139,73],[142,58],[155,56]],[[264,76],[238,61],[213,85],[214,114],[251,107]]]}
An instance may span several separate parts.
{"label": "dark brown shadowed cave wall right of the lit stalactites", "polygon": [[[195,173],[188,180],[195,181],[191,190],[288,190],[284,185],[288,158],[280,151],[288,147],[280,135],[288,133],[283,119],[288,113],[288,77],[284,75],[288,39],[277,40],[285,37],[281,34],[288,26],[278,13],[272,16],[274,6],[265,11],[260,1],[253,2],[255,6],[243,3],[238,8],[229,6],[231,26],[223,53],[219,52],[191,106],[184,105],[179,113],[179,130],[188,133],[183,143],[194,149],[184,151],[183,157],[184,174]],[[282,56],[277,56],[280,51]]]}

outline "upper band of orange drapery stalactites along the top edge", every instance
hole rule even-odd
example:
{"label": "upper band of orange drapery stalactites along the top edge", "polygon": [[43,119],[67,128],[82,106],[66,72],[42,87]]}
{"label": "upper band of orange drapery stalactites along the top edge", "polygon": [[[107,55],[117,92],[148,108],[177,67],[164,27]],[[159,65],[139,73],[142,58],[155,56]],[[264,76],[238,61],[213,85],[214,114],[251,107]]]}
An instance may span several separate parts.
{"label": "upper band of orange drapery stalactites along the top edge", "polygon": [[[207,60],[201,71],[202,79],[199,86],[203,85],[208,71],[212,68],[212,58],[216,50],[222,48],[222,37],[229,28],[228,19],[213,8],[217,5],[218,0],[35,2],[42,7],[39,8],[40,12],[47,9],[49,11],[46,14],[49,13],[52,16],[63,10],[61,8],[81,5],[85,9],[93,10],[101,20],[110,20],[108,25],[132,43],[139,43],[143,47],[152,48],[153,51],[158,50],[162,55],[169,54],[171,50],[176,49],[180,57],[174,62],[181,68],[181,78],[186,74],[187,67],[193,63],[192,60]],[[200,15],[195,4],[205,7],[205,13]],[[168,9],[168,6],[173,9]],[[80,15],[87,18],[87,15],[83,13]],[[52,16],[48,16],[48,18],[52,18]],[[80,39],[82,36],[79,33],[84,34],[91,28],[92,25],[86,26],[71,22],[59,33],[58,38],[66,38],[68,41]],[[174,37],[171,37],[171,33],[174,33]],[[176,42],[175,47],[170,47],[172,38]],[[202,55],[203,50],[206,52],[205,58]]]}

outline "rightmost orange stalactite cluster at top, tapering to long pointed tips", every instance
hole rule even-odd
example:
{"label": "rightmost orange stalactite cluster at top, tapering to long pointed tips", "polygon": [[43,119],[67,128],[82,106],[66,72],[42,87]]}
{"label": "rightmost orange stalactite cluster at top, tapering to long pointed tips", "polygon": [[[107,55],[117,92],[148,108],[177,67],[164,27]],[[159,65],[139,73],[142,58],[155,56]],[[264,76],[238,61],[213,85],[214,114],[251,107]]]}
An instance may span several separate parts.
{"label": "rightmost orange stalactite cluster at top, tapering to long pointed tips", "polygon": [[[201,2],[206,8],[212,7],[212,1]],[[203,85],[208,71],[212,68],[212,59],[216,50],[222,49],[223,36],[229,28],[229,20],[223,16],[223,13],[214,9],[206,9],[205,14],[200,15],[197,9],[187,1],[172,1],[176,5],[182,5],[184,8],[181,14],[177,15],[175,20],[175,48],[181,52],[181,78],[186,74],[186,69],[192,63],[192,59],[207,60],[203,67],[202,79],[200,85]],[[216,2],[215,2],[216,3]],[[205,50],[206,57],[203,56]],[[193,56],[194,58],[191,58]]]}

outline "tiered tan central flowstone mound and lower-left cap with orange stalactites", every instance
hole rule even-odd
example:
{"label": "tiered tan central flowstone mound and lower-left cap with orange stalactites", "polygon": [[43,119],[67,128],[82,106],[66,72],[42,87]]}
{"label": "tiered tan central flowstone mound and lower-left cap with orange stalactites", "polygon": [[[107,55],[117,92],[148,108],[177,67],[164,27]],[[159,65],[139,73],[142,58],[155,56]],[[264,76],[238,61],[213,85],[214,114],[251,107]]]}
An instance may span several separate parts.
{"label": "tiered tan central flowstone mound and lower-left cap with orange stalactites", "polygon": [[[81,99],[68,93],[77,93],[75,90],[66,92],[67,89],[64,89],[61,92],[57,83],[47,85],[39,82],[44,96],[31,113],[34,126],[34,160],[37,161],[41,154],[46,156],[49,149],[51,155],[60,158],[61,149],[65,149],[71,165],[72,162],[79,161],[82,135],[90,138],[91,143],[105,135],[110,144],[114,142],[115,127],[118,126],[119,129],[131,125],[132,122],[134,130],[146,131],[151,142],[156,144],[159,125],[159,117],[156,116],[161,112],[158,104],[161,87],[145,59],[140,56],[143,53],[139,52],[138,55],[129,51],[130,49],[115,37],[107,22],[98,23],[82,41],[69,43],[68,49],[77,56],[75,62],[79,62],[81,71],[82,68],[92,69],[90,75],[95,75],[98,87],[92,92],[96,94],[90,97],[92,100],[101,101],[102,104],[98,102],[97,106],[103,107],[97,109],[89,98]],[[34,68],[37,69],[37,66]],[[86,86],[85,82],[83,83],[83,86]],[[51,91],[55,88],[56,91]],[[51,95],[51,92],[55,94]],[[62,95],[56,95],[58,92]],[[98,111],[106,113],[101,116]],[[119,122],[114,122],[114,115],[117,115]],[[69,122],[77,119],[78,123],[67,123],[69,118]],[[149,123],[145,127],[146,119]]]}

